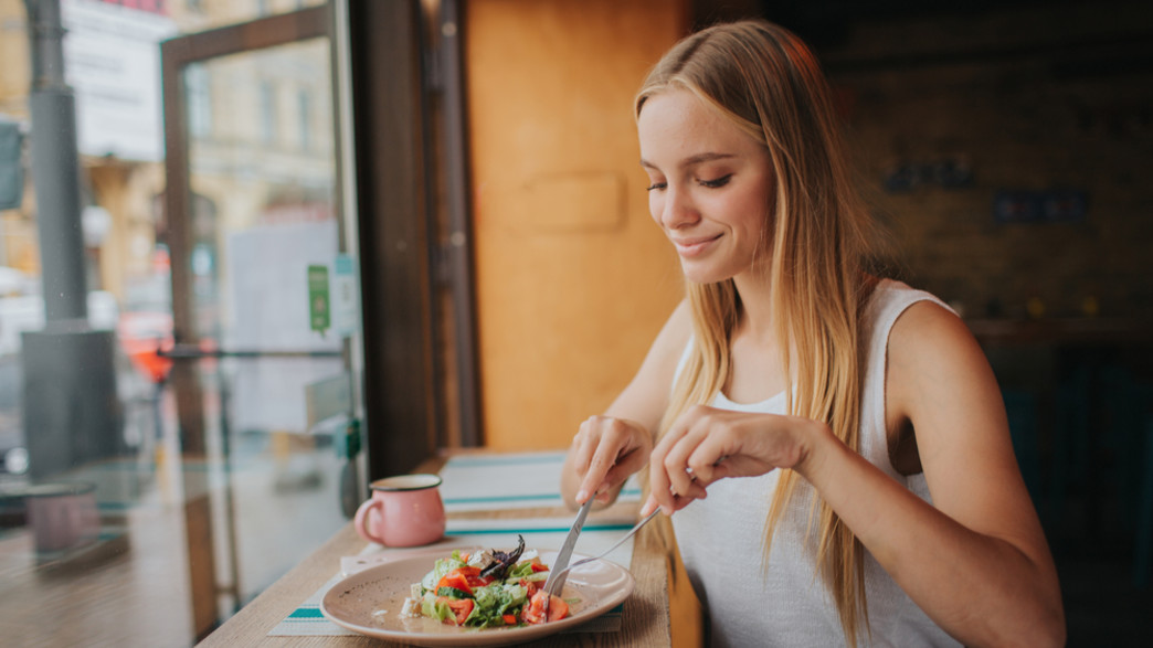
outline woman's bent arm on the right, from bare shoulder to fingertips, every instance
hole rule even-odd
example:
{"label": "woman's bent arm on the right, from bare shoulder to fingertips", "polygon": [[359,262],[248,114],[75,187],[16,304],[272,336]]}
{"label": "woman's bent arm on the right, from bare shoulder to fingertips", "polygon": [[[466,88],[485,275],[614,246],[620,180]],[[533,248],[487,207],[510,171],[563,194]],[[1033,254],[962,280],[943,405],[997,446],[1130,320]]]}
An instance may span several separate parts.
{"label": "woman's bent arm on the right, from bare shoulder to fingertips", "polygon": [[791,467],[952,636],[972,646],[1063,643],[1056,568],[975,340],[944,309],[914,304],[890,333],[886,384],[890,420],[913,425],[933,505],[823,423],[698,407],[655,449],[642,513],[684,507],[722,477]]}

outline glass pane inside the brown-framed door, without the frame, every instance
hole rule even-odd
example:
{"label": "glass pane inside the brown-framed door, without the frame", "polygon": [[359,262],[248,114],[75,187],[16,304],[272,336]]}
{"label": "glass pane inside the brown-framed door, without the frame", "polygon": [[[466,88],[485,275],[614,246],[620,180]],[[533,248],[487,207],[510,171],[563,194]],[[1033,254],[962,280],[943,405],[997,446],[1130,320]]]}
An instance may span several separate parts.
{"label": "glass pane inside the brown-framed door, without the frame", "polygon": [[309,312],[309,266],[339,251],[329,43],[213,59],[184,82],[204,115],[189,122],[191,299],[202,347],[226,352],[199,362],[205,438],[231,466],[216,559],[236,560],[243,602],[346,521],[341,458],[304,405],[307,385],[345,369]]}

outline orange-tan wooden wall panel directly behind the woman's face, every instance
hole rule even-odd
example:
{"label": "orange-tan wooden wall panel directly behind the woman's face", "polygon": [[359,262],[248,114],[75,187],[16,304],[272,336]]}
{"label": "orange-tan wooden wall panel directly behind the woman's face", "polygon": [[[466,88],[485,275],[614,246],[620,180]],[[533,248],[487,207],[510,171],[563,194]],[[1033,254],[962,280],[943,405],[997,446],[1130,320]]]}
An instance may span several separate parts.
{"label": "orange-tan wooden wall panel directly behind the woman's face", "polygon": [[466,9],[484,442],[565,447],[683,293],[648,213],[632,99],[688,3]]}

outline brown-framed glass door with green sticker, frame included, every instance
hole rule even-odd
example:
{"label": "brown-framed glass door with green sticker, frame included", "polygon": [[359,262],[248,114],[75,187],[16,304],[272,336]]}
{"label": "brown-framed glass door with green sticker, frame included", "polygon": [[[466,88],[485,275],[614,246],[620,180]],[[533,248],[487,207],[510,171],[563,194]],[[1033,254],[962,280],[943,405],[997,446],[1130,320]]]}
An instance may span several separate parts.
{"label": "brown-framed glass door with green sticker, frame included", "polygon": [[360,366],[330,7],[166,42],[166,221],[197,634],[347,522]]}

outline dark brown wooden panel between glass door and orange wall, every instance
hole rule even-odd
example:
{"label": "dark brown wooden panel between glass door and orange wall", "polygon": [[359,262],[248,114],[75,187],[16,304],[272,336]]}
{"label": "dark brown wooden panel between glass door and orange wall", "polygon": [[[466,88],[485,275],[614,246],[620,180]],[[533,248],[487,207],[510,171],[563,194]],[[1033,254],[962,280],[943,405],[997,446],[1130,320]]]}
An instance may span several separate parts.
{"label": "dark brown wooden panel between glass door and orange wall", "polygon": [[420,5],[351,2],[369,480],[436,452]]}

